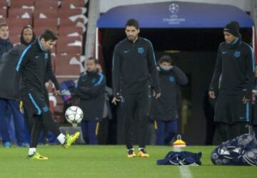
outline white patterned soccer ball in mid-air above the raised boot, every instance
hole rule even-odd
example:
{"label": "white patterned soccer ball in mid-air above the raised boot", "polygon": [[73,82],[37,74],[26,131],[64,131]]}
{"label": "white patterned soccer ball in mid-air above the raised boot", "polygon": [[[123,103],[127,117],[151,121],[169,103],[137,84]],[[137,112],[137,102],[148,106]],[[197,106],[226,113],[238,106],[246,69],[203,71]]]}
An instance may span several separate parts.
{"label": "white patterned soccer ball in mid-air above the raised boot", "polygon": [[83,111],[81,108],[73,105],[66,110],[65,118],[71,124],[80,123],[83,119]]}

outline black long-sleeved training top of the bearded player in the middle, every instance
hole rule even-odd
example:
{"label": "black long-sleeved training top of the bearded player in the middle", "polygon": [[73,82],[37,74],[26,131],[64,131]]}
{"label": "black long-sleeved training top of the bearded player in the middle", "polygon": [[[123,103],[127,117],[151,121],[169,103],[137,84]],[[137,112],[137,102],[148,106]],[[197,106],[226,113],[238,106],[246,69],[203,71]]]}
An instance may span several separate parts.
{"label": "black long-sleeved training top of the bearded player in the middle", "polygon": [[146,92],[149,75],[153,89],[156,93],[161,92],[153,45],[146,38],[138,37],[135,43],[126,38],[118,43],[114,49],[112,70],[114,95]]}

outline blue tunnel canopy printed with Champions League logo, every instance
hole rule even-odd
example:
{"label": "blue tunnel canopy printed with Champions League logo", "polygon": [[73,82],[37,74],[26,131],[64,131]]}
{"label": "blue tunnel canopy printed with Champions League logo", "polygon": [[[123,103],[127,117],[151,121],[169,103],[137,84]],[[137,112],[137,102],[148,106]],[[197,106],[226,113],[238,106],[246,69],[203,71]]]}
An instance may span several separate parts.
{"label": "blue tunnel canopy printed with Champions League logo", "polygon": [[100,17],[97,27],[124,28],[131,18],[140,28],[223,28],[229,21],[238,21],[242,28],[253,26],[251,17],[236,6],[170,1],[117,6]]}

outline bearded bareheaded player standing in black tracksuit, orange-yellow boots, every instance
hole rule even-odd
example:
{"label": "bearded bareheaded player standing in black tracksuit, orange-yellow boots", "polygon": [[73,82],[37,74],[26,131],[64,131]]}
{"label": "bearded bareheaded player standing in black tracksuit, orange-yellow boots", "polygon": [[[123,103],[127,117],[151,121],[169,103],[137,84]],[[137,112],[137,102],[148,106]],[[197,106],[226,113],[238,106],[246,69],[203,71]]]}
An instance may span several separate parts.
{"label": "bearded bareheaded player standing in black tracksuit, orange-yellow boots", "polygon": [[116,45],[113,58],[113,103],[116,104],[116,101],[121,99],[128,157],[136,157],[132,140],[132,119],[136,110],[139,126],[138,157],[148,157],[145,148],[151,99],[149,75],[153,79],[155,97],[158,98],[161,95],[153,46],[146,38],[138,37],[138,33],[138,22],[135,19],[127,21],[127,38]]}

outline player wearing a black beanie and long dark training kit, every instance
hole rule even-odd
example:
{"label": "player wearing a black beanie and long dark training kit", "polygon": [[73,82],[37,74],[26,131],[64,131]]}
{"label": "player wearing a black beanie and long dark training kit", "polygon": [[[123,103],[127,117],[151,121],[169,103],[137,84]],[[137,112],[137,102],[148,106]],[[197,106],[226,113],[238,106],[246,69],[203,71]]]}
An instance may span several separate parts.
{"label": "player wearing a black beanie and long dark training kit", "polygon": [[255,67],[253,50],[241,41],[238,23],[228,23],[223,33],[226,41],[218,47],[209,95],[213,99],[218,95],[214,121],[224,142],[247,132]]}

